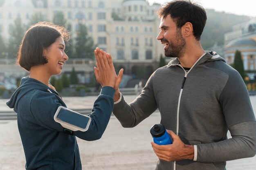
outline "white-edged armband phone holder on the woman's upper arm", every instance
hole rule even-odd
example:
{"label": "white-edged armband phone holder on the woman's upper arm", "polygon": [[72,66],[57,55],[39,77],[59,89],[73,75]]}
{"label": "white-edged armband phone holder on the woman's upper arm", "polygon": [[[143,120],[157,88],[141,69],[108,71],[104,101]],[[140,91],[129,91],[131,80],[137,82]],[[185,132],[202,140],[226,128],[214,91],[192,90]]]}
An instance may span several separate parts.
{"label": "white-edged armband phone holder on the woman's upper arm", "polygon": [[63,106],[59,106],[54,115],[54,120],[61,124],[63,128],[67,128],[72,131],[80,130],[85,132],[88,130],[92,118]]}

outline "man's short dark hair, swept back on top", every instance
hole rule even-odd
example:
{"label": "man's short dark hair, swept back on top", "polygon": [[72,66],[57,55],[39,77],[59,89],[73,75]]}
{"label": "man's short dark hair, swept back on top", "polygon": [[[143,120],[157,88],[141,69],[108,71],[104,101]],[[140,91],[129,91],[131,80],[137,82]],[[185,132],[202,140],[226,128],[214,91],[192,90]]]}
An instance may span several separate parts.
{"label": "man's short dark hair, swept back on top", "polygon": [[157,13],[160,18],[166,18],[167,15],[171,15],[178,29],[186,22],[191,22],[193,35],[196,40],[200,40],[207,16],[204,8],[199,4],[192,3],[190,0],[174,0],[164,4]]}

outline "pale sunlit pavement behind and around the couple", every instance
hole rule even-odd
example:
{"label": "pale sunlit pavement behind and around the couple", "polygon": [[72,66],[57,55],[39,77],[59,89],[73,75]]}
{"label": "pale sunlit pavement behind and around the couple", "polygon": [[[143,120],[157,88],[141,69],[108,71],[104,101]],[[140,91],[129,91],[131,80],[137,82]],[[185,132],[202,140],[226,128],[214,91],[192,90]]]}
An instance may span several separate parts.
{"label": "pale sunlit pavement behind and around the couple", "polygon": [[[125,95],[131,102],[136,95]],[[97,96],[63,97],[68,108],[88,110]],[[256,113],[256,96],[250,97]],[[0,112],[12,111],[0,99]],[[115,116],[111,116],[101,139],[84,141],[77,138],[83,170],[155,170],[157,156],[153,152],[149,129],[160,122],[157,110],[134,128],[123,128]],[[0,170],[25,170],[25,156],[16,119],[0,120]],[[230,135],[229,135],[230,137]],[[227,161],[227,170],[255,170],[256,156]]]}

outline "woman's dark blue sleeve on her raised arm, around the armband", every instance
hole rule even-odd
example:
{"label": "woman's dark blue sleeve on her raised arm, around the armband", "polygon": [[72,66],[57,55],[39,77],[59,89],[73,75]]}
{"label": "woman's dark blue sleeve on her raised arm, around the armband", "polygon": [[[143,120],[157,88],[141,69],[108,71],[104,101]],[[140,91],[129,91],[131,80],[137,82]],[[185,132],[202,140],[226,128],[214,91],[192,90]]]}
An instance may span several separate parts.
{"label": "woman's dark blue sleeve on her raised arm, around the armband", "polygon": [[[114,105],[115,90],[112,87],[103,87],[100,95],[94,102],[92,118],[89,129],[86,132],[76,131],[74,135],[88,141],[100,139],[108,125]],[[54,114],[59,106],[63,106],[58,97],[52,93],[37,93],[31,100],[31,113],[36,123],[45,128],[63,132],[61,124],[54,121]]]}

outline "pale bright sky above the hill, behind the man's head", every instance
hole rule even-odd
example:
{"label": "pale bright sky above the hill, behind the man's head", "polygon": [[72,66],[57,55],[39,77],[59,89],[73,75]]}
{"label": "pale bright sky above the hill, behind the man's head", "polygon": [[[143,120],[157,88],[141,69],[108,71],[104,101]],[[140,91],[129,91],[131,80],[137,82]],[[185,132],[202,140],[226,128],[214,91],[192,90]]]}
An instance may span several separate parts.
{"label": "pale bright sky above the hill, behind the man's head", "polygon": [[[171,0],[148,0],[149,4],[154,2],[163,4]],[[234,13],[236,15],[247,15],[256,17],[256,0],[191,0],[199,2],[205,9],[214,9],[219,12]]]}

